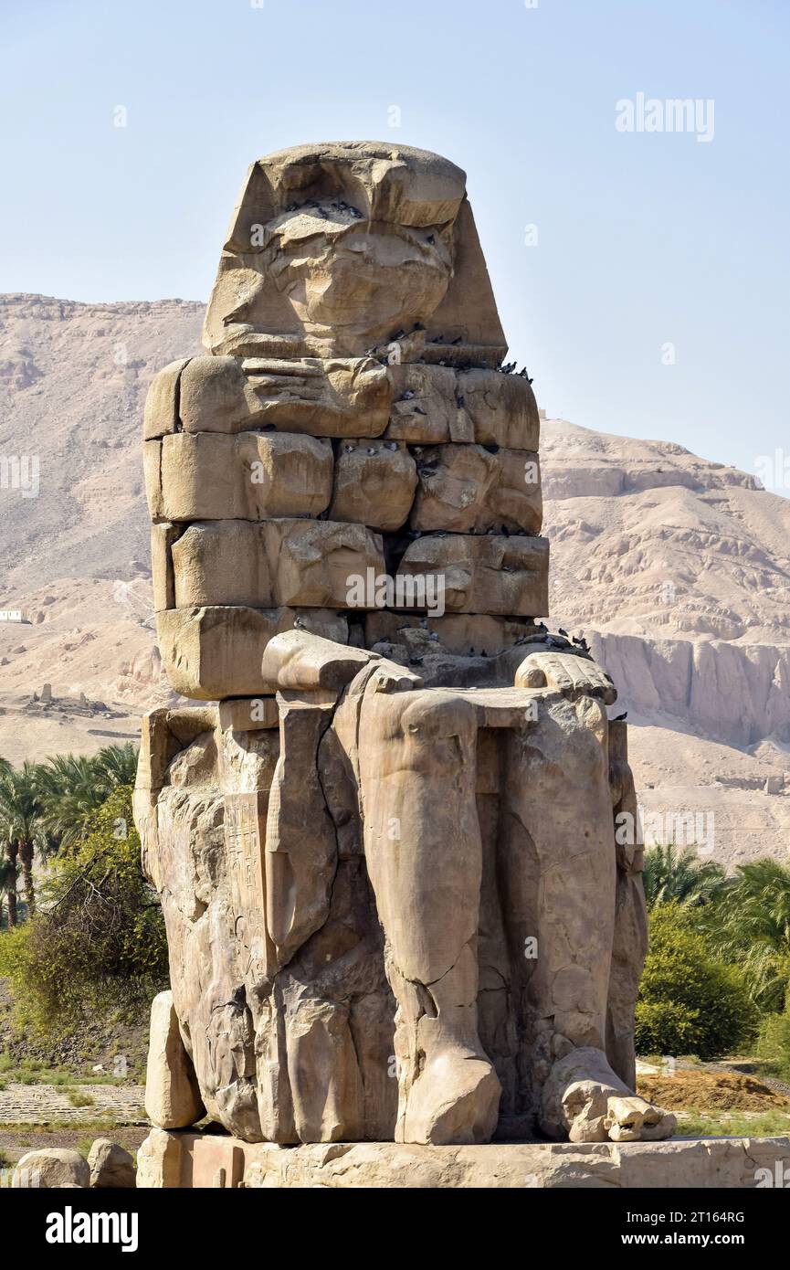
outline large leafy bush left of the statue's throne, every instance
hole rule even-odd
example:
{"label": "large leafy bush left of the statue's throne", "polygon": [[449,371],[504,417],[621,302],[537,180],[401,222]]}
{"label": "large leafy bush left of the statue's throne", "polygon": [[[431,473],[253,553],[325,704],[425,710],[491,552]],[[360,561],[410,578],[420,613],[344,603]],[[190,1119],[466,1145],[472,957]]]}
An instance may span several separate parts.
{"label": "large leafy bush left of the statue's throne", "polygon": [[0,974],[39,1030],[110,1006],[132,1013],[166,986],[164,921],[140,867],[131,794],[119,786],[91,813],[86,837],[55,861],[36,916],[0,935]]}

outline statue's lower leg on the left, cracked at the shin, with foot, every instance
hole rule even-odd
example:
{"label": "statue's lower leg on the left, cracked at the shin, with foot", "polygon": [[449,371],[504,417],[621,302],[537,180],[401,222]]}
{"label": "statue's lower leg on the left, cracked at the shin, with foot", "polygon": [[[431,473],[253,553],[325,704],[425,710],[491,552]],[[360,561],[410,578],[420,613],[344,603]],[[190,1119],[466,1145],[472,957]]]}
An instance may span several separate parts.
{"label": "statue's lower leg on the left, cracked at the shin, with foot", "polygon": [[368,690],[359,738],[365,851],[398,999],[396,1138],[488,1142],[500,1086],[478,1036],[474,707],[441,690]]}

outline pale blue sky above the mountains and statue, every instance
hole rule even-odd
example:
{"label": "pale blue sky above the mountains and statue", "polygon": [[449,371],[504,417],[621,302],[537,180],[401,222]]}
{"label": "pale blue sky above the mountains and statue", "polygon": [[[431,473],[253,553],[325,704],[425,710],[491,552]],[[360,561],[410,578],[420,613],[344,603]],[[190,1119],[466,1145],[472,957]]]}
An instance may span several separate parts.
{"label": "pale blue sky above the mountains and statue", "polygon": [[[204,300],[251,159],[409,142],[466,169],[549,414],[753,471],[790,453],[789,37],[787,0],[0,0],[0,290]],[[638,93],[714,140],[616,131]]]}

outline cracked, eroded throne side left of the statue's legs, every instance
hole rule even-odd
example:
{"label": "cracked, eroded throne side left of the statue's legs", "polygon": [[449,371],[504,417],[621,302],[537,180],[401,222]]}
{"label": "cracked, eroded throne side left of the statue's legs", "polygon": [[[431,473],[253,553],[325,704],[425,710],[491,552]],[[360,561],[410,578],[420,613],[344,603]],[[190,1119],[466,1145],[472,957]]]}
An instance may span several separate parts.
{"label": "cracked, eroded throne side left of the statue's legs", "polygon": [[283,700],[278,719],[264,701],[225,702],[225,725],[210,710],[183,748],[191,711],[146,720],[147,752],[175,751],[136,798],[180,1035],[230,1133],[389,1138],[395,1007],[359,836],[342,832],[331,706]]}

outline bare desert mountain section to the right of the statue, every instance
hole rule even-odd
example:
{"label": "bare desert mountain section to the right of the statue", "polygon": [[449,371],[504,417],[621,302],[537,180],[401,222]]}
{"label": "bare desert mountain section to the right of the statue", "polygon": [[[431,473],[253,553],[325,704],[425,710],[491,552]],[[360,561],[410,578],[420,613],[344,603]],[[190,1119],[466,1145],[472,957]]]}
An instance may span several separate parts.
{"label": "bare desert mountain section to the right of the statue", "polygon": [[680,444],[561,419],[541,465],[552,624],[584,631],[636,725],[645,838],[784,857],[790,500]]}

